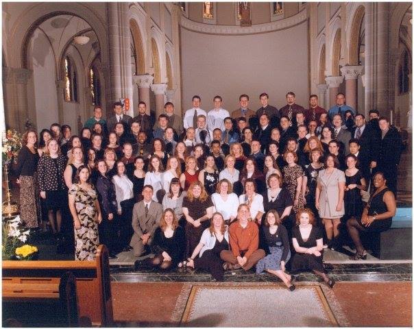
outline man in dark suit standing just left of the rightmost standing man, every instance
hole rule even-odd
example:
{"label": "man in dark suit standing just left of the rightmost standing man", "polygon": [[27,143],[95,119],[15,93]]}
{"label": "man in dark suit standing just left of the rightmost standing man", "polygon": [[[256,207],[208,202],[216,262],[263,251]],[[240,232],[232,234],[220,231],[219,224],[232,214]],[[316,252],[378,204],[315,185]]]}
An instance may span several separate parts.
{"label": "man in dark suit standing just left of the rightmost standing man", "polygon": [[[355,126],[352,127],[351,136],[352,139],[358,141],[358,145],[360,146],[358,161],[360,163],[361,172],[368,185],[369,180],[371,179],[369,169],[373,167],[373,162],[378,161],[380,134],[374,127],[365,123],[363,114],[357,114],[355,117]],[[349,144],[350,143],[351,140]]]}

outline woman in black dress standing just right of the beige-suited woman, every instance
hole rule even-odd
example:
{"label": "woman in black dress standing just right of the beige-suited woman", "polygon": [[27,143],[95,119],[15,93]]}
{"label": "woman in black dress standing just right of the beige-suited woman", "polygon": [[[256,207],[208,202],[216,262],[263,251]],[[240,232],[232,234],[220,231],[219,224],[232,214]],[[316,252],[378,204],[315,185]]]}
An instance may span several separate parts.
{"label": "woman in black dress standing just right of the beige-suited woman", "polygon": [[363,202],[361,190],[365,191],[365,178],[361,171],[356,169],[356,156],[350,154],[345,159],[348,169],[345,170],[345,196],[343,202],[345,204],[345,219],[355,217],[361,218],[363,211]]}

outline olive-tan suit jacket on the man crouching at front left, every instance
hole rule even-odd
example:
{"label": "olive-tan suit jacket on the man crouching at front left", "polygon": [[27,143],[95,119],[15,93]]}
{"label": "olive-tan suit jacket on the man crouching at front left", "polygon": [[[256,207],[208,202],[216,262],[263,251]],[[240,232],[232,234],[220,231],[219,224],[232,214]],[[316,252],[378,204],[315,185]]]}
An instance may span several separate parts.
{"label": "olive-tan suit jacket on the man crouching at front left", "polygon": [[162,217],[162,205],[152,200],[149,205],[148,214],[145,216],[144,201],[141,200],[134,204],[132,210],[132,228],[134,229],[134,235],[132,236],[130,246],[134,247],[140,241],[143,234],[149,234],[148,244],[151,243],[154,237],[154,232],[160,223]]}

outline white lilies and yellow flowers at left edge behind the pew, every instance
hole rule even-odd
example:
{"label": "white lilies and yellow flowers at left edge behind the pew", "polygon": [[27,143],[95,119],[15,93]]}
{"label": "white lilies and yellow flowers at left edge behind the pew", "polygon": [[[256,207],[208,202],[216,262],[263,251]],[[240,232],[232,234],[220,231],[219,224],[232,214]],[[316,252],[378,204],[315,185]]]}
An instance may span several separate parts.
{"label": "white lilies and yellow flowers at left edge behind the pew", "polygon": [[[21,225],[20,216],[17,216],[9,221],[3,221],[3,260],[12,260],[15,256],[19,256],[20,253],[17,253],[16,249],[26,243],[27,239],[29,238],[29,234],[30,230],[23,228]],[[23,249],[23,252],[26,252],[26,250]]]}

